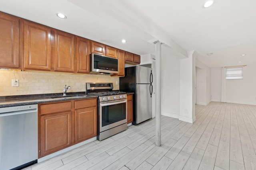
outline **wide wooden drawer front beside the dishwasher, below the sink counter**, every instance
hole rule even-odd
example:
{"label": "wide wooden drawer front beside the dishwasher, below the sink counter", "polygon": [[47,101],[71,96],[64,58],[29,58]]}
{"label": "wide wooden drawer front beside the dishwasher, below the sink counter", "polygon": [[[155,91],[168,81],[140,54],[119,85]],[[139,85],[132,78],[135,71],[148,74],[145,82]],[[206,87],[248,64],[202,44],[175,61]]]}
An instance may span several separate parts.
{"label": "wide wooden drawer front beside the dishwasher, below the sink counter", "polygon": [[71,110],[71,102],[55,103],[55,104],[45,104],[40,106],[40,114],[47,113],[57,113],[62,111]]}

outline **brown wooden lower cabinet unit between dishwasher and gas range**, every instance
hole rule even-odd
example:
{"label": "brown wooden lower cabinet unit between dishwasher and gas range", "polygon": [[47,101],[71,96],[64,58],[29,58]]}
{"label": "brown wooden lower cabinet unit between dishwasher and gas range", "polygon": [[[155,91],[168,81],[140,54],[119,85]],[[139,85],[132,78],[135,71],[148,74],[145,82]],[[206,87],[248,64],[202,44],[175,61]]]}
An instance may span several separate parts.
{"label": "brown wooden lower cabinet unit between dishwasher and gas range", "polygon": [[97,98],[38,105],[38,158],[97,136]]}

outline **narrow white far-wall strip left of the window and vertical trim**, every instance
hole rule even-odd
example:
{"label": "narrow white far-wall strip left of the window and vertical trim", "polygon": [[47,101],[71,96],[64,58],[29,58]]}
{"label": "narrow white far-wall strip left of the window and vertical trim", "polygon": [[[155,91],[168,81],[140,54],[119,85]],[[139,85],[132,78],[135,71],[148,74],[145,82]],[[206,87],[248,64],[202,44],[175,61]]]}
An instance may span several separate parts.
{"label": "narrow white far-wall strip left of the window and vertical trim", "polygon": [[221,102],[222,67],[211,68],[212,101]]}

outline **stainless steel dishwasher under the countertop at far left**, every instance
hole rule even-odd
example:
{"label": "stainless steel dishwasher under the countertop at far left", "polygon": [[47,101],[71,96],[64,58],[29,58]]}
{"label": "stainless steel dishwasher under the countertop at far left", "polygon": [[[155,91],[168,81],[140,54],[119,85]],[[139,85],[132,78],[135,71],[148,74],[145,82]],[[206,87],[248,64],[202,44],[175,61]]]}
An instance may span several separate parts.
{"label": "stainless steel dishwasher under the countertop at far left", "polygon": [[38,105],[0,108],[0,170],[20,169],[38,159]]}

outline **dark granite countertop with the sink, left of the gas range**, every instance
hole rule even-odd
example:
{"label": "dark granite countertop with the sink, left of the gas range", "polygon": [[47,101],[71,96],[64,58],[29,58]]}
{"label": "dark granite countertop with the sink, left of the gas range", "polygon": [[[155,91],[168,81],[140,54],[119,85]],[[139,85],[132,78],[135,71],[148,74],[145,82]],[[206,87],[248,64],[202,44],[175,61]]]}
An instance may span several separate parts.
{"label": "dark granite countertop with the sink, left of the gas range", "polygon": [[0,107],[24,106],[29,104],[60,102],[60,101],[66,101],[66,100],[79,100],[79,99],[98,97],[95,95],[85,94],[85,92],[67,93],[66,97],[63,97],[62,94],[63,93],[0,96]]}

